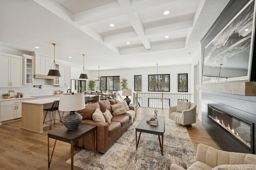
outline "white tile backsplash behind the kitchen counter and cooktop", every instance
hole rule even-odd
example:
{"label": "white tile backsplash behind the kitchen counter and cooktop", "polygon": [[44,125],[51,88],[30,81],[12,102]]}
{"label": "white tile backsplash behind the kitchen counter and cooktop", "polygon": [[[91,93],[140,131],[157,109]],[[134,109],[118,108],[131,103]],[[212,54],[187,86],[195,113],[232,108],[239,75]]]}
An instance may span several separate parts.
{"label": "white tile backsplash behind the kitchen counter and cooktop", "polygon": [[24,94],[24,97],[29,97],[31,95],[52,95],[56,90],[62,90],[66,93],[70,88],[51,85],[51,82],[52,80],[50,79],[34,79],[34,85],[42,85],[42,89],[34,87],[34,85],[23,85],[23,87],[0,87],[0,97],[2,98],[2,94],[8,93],[9,90],[14,90],[14,94],[20,92]]}

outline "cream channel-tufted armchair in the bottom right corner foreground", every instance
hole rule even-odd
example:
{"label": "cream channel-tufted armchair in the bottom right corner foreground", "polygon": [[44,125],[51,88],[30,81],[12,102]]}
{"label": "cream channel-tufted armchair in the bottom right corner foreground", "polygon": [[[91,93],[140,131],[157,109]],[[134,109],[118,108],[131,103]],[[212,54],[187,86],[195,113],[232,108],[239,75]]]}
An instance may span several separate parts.
{"label": "cream channel-tufted armchair in the bottom right corner foreground", "polygon": [[[196,162],[188,170],[255,170],[256,155],[226,152],[198,144]],[[185,170],[172,164],[171,170]]]}

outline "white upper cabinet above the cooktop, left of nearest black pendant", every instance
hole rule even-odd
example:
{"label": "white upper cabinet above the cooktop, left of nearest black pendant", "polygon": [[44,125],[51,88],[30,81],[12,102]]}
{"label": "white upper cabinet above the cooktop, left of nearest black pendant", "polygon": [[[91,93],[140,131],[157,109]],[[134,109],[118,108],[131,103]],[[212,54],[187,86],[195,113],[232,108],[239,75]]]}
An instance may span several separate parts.
{"label": "white upper cabinet above the cooktop, left of nearest black pendant", "polygon": [[[47,75],[48,71],[52,65],[53,58],[46,57],[39,53],[31,54],[35,57],[35,74],[36,75]],[[52,66],[53,68],[53,66]]]}

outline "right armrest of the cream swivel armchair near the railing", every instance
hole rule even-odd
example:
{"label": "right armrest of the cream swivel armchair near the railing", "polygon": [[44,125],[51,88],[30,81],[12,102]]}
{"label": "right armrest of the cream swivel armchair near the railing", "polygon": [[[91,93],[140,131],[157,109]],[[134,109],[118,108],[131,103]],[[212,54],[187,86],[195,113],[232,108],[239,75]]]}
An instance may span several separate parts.
{"label": "right armrest of the cream swivel armchair near the railing", "polygon": [[181,124],[188,125],[196,123],[196,106],[192,107],[191,109],[182,111],[181,113]]}

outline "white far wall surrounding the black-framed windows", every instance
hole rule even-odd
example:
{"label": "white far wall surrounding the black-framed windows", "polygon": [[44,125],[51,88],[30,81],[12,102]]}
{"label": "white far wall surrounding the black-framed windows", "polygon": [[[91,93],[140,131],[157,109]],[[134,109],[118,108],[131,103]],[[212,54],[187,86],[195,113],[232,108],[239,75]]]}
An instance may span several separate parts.
{"label": "white far wall surrounding the black-framed windows", "polygon": [[[170,74],[170,92],[178,93],[178,73],[188,73],[188,93],[191,93],[191,65],[158,66],[158,74]],[[134,90],[134,75],[142,75],[142,92],[148,92],[148,75],[156,74],[156,67],[100,70],[100,76],[120,76],[128,79],[128,88]],[[90,71],[89,79],[98,76],[98,71]],[[121,89],[121,87],[120,87]]]}

